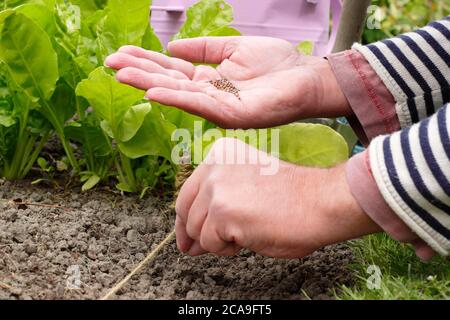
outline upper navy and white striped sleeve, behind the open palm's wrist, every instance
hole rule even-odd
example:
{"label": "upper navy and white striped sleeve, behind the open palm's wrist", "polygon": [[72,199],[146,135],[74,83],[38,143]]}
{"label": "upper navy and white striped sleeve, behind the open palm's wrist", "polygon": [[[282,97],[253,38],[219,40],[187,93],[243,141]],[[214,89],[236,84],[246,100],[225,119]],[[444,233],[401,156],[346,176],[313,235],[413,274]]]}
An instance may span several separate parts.
{"label": "upper navy and white striped sleeve, behind the open palm's wrist", "polygon": [[402,128],[450,102],[450,16],[396,38],[355,45],[395,98]]}

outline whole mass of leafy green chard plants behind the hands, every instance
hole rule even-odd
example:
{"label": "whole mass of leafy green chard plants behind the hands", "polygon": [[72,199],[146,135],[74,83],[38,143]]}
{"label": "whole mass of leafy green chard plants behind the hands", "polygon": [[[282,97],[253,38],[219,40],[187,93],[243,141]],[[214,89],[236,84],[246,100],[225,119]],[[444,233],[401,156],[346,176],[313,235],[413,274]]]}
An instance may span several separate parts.
{"label": "whole mass of leafy green chard plants behind the hands", "polygon": [[[150,0],[4,0],[0,5],[0,175],[22,179],[52,134],[82,190],[115,178],[123,192],[171,187],[177,129],[192,138],[215,126],[181,110],[143,100],[118,83],[105,58],[123,45],[163,52],[149,24]],[[233,10],[222,0],[188,9],[174,39],[235,36]],[[342,137],[326,126],[280,129],[280,157],[331,166],[346,159]],[[264,148],[265,146],[258,145]],[[207,145],[205,145],[207,148]],[[75,150],[74,150],[75,149]],[[40,158],[41,157],[41,158]]]}

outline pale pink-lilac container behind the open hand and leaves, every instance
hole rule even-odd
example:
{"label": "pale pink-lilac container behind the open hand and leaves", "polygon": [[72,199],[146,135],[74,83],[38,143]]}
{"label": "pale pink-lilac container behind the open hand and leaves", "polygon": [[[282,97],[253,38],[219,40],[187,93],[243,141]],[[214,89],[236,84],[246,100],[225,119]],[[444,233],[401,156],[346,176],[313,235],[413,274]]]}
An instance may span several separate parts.
{"label": "pale pink-lilac container behind the open hand and leaves", "polygon": [[[183,24],[185,11],[198,0],[153,0],[152,25],[163,44]],[[233,26],[244,35],[277,37],[293,44],[313,41],[314,54],[325,55],[334,44],[340,0],[226,0],[234,9]],[[330,12],[333,31],[330,36]]]}

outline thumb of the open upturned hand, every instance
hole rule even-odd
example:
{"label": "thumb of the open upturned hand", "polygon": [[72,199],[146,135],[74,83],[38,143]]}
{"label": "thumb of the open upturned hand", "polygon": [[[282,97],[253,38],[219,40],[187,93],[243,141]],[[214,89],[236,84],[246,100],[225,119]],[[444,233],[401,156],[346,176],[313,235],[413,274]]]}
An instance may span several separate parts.
{"label": "thumb of the open upturned hand", "polygon": [[228,59],[239,44],[239,37],[203,37],[169,43],[173,57],[197,63],[220,64]]}

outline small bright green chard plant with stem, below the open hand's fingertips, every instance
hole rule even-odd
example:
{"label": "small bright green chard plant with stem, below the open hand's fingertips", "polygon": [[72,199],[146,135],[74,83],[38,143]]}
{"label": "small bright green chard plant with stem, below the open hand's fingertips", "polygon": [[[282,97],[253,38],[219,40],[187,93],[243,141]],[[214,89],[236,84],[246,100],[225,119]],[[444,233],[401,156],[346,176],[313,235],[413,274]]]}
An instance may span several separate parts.
{"label": "small bright green chard plant with stem, below the open hand's fingertips", "polygon": [[143,92],[118,83],[103,68],[94,70],[76,90],[89,101],[105,134],[118,145],[119,188],[126,192],[142,189],[142,181],[131,167],[130,159],[161,156],[169,160],[171,134],[176,127],[158,109],[142,103]]}

